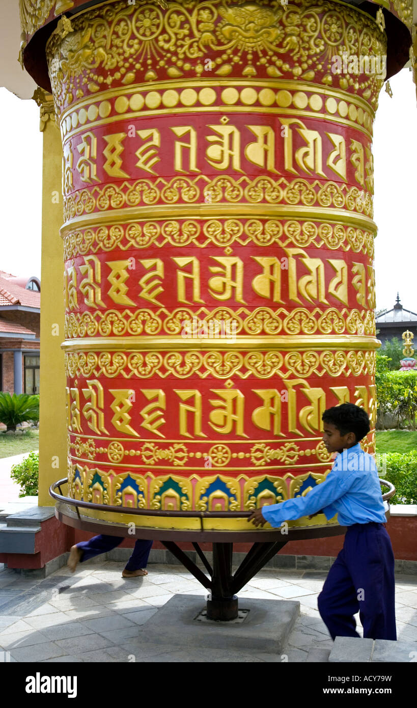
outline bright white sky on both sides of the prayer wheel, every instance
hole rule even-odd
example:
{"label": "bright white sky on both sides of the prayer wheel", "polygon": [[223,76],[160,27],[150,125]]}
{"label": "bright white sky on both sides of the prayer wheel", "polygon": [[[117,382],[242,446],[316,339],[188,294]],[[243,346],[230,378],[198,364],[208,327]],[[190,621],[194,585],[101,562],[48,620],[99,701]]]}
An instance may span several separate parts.
{"label": "bright white sky on both sides of the prayer wheel", "polygon": [[[417,105],[412,73],[403,69],[384,89],[374,131],[377,309],[399,291],[417,312]],[[35,101],[0,88],[0,270],[40,276],[42,133]],[[59,234],[57,234],[59,238]]]}

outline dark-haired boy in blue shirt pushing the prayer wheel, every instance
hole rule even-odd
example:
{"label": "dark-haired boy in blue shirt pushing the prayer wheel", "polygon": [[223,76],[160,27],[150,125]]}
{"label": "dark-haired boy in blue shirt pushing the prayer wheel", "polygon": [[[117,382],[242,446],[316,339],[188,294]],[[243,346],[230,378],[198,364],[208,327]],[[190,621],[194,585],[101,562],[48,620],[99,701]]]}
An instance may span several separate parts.
{"label": "dark-haired boy in blue shirt pushing the prayer wheel", "polygon": [[369,418],[345,403],[324,411],[322,420],[324,445],[338,452],[326,479],[304,497],[256,509],[248,521],[278,527],[301,516],[324,513],[329,520],[337,513],[348,530],[318,598],[321,619],[332,639],[359,636],[353,617],[359,610],[364,637],[396,639],[394,554],[377,468],[359,445],[369,433]]}

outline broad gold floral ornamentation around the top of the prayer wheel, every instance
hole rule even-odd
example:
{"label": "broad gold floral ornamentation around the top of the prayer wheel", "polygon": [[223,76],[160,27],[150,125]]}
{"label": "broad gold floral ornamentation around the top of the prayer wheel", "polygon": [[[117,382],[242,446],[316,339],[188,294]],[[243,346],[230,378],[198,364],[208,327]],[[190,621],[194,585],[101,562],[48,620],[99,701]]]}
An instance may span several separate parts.
{"label": "broad gold floral ornamentation around the top of the prayer wheel", "polygon": [[[268,5],[267,5],[268,3]],[[108,70],[108,85],[156,79],[186,81],[205,71],[203,62],[210,54],[217,76],[236,73],[236,57],[241,57],[241,76],[259,75],[259,67],[271,78],[313,81],[322,74],[323,47],[331,45],[334,55],[386,54],[386,38],[375,22],[349,6],[323,0],[316,3],[293,0],[282,6],[278,0],[258,0],[239,6],[225,6],[210,0],[184,5],[170,2],[164,13],[154,4],[126,7],[125,2],[96,8],[74,18],[74,33],[63,41],[57,34],[47,43],[47,58],[57,105],[81,92],[101,89],[101,67]],[[120,26],[123,35],[120,39]],[[351,31],[355,27],[356,31]],[[99,47],[98,47],[99,45]],[[147,57],[156,57],[149,69]],[[285,55],[285,57],[283,56]],[[256,59],[255,59],[256,57]],[[382,78],[378,74],[326,74],[326,86],[362,91],[377,102]],[[67,93],[67,95],[65,95]],[[246,102],[251,105],[249,91]]]}

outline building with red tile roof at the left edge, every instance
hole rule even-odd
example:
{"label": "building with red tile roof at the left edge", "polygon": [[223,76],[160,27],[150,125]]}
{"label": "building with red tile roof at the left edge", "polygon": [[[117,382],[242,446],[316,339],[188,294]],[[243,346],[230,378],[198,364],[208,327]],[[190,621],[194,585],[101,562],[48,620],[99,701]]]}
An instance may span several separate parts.
{"label": "building with red tile roof at the left edge", "polygon": [[40,280],[0,270],[0,389],[39,393]]}

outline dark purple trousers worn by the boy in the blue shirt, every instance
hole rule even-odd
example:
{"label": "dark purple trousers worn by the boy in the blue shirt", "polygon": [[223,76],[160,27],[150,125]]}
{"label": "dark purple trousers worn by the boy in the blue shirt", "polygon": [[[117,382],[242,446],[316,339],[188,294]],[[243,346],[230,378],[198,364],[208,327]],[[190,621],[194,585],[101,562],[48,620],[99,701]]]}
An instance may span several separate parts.
{"label": "dark purple trousers worn by the boy in the blue shirt", "polygon": [[394,554],[384,525],[349,526],[317,601],[331,638],[359,636],[353,617],[359,612],[364,637],[396,639],[394,593]]}

